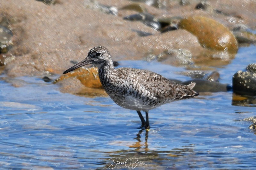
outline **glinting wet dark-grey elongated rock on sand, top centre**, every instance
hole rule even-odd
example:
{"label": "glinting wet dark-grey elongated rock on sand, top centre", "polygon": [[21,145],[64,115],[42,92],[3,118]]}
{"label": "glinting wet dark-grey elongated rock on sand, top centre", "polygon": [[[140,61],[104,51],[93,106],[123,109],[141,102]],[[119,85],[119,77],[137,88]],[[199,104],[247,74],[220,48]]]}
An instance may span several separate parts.
{"label": "glinting wet dark-grey elongated rock on sand, top centre", "polygon": [[129,15],[124,17],[123,19],[130,21],[141,21],[145,25],[150,26],[156,30],[159,30],[161,28],[161,25],[157,21],[157,19],[148,12],[141,12],[138,14]]}

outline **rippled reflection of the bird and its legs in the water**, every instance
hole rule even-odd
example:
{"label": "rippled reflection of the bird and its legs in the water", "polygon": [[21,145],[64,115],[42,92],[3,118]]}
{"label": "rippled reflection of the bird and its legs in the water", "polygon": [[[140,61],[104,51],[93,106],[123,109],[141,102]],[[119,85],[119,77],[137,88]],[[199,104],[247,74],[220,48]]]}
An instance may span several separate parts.
{"label": "rippled reflection of the bird and its legs in the water", "polygon": [[[189,141],[181,141],[180,144],[186,144],[184,146],[180,146],[180,148],[163,150],[164,147],[159,148],[158,146],[154,146],[154,144],[148,143],[148,139],[150,139],[150,132],[152,132],[152,130],[140,129],[136,134],[136,137],[133,138],[136,141],[132,144],[126,144],[124,146],[123,144],[127,141],[123,141],[123,144],[119,141],[116,144],[121,144],[119,146],[123,146],[124,149],[105,152],[105,156],[107,158],[104,158],[104,160],[100,161],[100,164],[104,165],[104,167],[108,169],[129,167],[130,169],[134,167],[139,167],[140,169],[162,169],[164,168],[163,165],[166,166],[166,164],[170,165],[171,167],[184,169],[187,164],[185,166],[180,166],[178,165],[179,162],[189,162],[191,159],[196,161],[194,157],[190,157],[191,155],[196,154],[194,150],[194,144],[190,144]],[[165,139],[163,138],[163,141],[164,140]],[[189,167],[192,168],[196,166],[192,165]]]}

